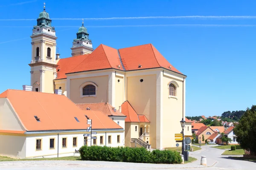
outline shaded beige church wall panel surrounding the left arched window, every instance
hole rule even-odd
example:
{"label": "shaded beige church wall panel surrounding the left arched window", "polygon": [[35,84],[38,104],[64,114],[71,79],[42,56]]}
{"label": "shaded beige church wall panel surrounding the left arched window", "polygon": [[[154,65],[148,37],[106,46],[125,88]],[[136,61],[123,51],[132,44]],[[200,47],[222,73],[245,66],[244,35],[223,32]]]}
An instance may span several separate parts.
{"label": "shaded beige church wall panel surrounding the left arched window", "polygon": [[[81,97],[80,86],[85,82],[93,82],[97,85],[96,97]],[[70,79],[70,99],[74,103],[108,102],[108,76]]]}

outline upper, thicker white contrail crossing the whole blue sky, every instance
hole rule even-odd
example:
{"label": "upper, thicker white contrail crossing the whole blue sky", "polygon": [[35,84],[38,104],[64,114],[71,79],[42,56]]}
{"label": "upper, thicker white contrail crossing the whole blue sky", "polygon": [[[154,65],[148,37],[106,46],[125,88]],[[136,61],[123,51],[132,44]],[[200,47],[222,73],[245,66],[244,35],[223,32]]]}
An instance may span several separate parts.
{"label": "upper, thicker white contrail crossing the whole blue sky", "polygon": [[[133,19],[216,19],[216,20],[230,20],[230,19],[256,19],[256,16],[159,16],[159,17],[110,17],[110,18],[52,18],[52,20],[133,20]],[[26,21],[36,19],[0,19],[0,21]]]}

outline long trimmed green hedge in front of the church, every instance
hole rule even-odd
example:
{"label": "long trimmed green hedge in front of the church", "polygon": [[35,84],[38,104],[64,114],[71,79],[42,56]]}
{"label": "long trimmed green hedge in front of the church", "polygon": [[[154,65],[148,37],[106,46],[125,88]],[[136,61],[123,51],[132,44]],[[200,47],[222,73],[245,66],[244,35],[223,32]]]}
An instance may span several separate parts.
{"label": "long trimmed green hedge in front of the church", "polygon": [[180,164],[180,153],[171,150],[146,150],[144,147],[82,146],[79,149],[82,160],[117,161],[155,164]]}

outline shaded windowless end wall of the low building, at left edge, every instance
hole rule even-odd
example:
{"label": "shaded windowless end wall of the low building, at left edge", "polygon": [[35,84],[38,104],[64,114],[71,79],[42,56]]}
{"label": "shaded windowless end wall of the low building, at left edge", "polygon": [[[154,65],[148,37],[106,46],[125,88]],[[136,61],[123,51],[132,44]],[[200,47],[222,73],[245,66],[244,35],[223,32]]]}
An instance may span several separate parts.
{"label": "shaded windowless end wall of the low building, at left edge", "polygon": [[0,135],[0,155],[26,157],[26,136]]}

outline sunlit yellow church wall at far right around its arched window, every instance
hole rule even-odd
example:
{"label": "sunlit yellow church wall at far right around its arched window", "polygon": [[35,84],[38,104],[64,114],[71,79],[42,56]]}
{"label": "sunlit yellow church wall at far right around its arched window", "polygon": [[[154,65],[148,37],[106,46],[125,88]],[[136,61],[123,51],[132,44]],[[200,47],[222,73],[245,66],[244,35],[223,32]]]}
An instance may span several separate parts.
{"label": "sunlit yellow church wall at far right around its arched window", "polygon": [[[169,97],[169,82],[171,81],[175,81],[179,86],[176,91],[176,98]],[[182,81],[163,76],[163,148],[175,147],[175,133],[182,131],[180,126],[182,119],[182,97]]]}

